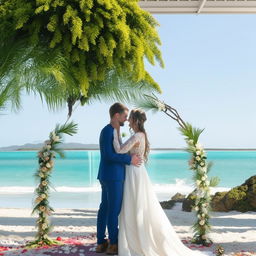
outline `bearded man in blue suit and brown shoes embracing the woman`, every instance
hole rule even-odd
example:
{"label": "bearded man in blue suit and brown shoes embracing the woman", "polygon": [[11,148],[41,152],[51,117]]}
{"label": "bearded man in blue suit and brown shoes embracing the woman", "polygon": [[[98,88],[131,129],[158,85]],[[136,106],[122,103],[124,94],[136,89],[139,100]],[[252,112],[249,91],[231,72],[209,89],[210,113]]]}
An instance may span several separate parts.
{"label": "bearded man in blue suit and brown shoes embracing the woman", "polygon": [[[98,179],[101,184],[101,204],[97,217],[97,253],[106,251],[108,255],[118,254],[118,215],[123,199],[125,165],[139,165],[141,159],[137,155],[117,154],[113,147],[114,128],[124,125],[128,117],[128,108],[115,103],[109,109],[110,124],[100,133],[100,166]],[[105,239],[108,228],[109,244]]]}

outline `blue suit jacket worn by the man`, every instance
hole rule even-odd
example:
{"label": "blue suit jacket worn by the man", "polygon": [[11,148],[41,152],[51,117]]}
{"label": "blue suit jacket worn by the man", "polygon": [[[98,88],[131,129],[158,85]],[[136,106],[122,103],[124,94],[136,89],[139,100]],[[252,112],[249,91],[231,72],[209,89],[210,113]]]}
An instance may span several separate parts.
{"label": "blue suit jacket worn by the man", "polygon": [[100,133],[100,166],[98,179],[102,181],[123,181],[125,179],[125,165],[131,163],[128,154],[117,154],[113,146],[114,128],[106,125]]}

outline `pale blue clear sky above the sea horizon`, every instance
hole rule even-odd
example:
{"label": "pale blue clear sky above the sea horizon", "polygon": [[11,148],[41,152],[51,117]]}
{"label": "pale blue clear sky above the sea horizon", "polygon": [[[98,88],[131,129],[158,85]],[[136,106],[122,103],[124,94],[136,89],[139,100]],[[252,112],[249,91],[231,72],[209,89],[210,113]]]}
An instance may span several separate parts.
{"label": "pale blue clear sky above the sea horizon", "polygon": [[[256,148],[256,15],[154,17],[165,68],[147,64],[146,69],[162,88],[159,98],[205,129],[200,137],[205,147]],[[0,147],[44,141],[66,120],[67,109],[51,112],[38,97],[24,95],[22,102],[18,113],[0,115]],[[65,142],[97,144],[113,103],[78,107],[72,116],[78,133]],[[151,147],[185,147],[174,120],[161,112],[147,112],[147,119]],[[127,123],[123,131],[129,133]]]}

